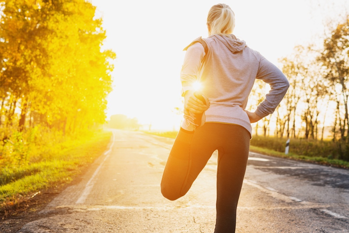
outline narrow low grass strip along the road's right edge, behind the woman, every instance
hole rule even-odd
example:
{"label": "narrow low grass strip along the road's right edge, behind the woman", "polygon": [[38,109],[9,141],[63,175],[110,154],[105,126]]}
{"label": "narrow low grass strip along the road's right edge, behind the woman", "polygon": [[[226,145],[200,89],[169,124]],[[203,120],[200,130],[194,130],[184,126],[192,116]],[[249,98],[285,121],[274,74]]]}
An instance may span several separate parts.
{"label": "narrow low grass strip along the road's right edge, behind the woman", "polygon": [[[168,132],[150,132],[150,131],[143,131],[148,134],[154,134],[157,136],[162,137],[168,137],[168,138],[176,138],[177,131],[168,131]],[[277,139],[278,140],[278,139]],[[346,168],[349,169],[349,162],[343,161],[340,159],[332,159],[328,157],[321,157],[321,156],[306,156],[306,155],[299,155],[290,152],[289,154],[285,154],[283,152],[278,152],[274,150],[270,150],[268,148],[258,147],[258,146],[250,146],[250,151],[261,153],[265,155],[280,157],[280,158],[287,158],[287,159],[293,159],[293,160],[299,160],[299,161],[305,161],[310,163],[316,163],[326,166],[332,166],[332,167],[339,167],[339,168]]]}

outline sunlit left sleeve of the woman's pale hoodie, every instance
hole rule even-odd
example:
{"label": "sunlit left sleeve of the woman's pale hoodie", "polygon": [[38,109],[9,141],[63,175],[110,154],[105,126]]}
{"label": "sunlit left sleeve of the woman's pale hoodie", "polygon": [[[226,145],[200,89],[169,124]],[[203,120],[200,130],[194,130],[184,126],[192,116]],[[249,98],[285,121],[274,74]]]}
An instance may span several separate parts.
{"label": "sunlit left sleeve of the woman's pale hoodie", "polygon": [[198,80],[201,60],[204,56],[205,49],[200,43],[195,43],[187,49],[180,73],[180,81],[183,87],[182,96],[186,90],[192,90],[193,83]]}

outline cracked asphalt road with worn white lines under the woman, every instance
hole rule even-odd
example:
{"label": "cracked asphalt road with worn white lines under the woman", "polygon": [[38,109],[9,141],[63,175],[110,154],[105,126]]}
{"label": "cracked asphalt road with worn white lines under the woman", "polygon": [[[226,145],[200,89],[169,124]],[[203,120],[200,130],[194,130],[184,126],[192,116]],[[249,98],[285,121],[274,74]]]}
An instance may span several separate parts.
{"label": "cracked asphalt road with worn white lines under the woman", "polygon": [[[186,196],[160,192],[173,139],[113,131],[81,182],[18,232],[212,233],[216,154]],[[349,170],[250,153],[238,205],[238,233],[349,232]]]}

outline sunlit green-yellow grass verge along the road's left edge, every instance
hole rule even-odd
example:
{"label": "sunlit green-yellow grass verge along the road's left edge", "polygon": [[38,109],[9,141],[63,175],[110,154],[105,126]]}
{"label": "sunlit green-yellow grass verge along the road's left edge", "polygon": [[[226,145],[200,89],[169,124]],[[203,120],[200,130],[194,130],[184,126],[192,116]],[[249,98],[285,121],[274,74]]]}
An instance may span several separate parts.
{"label": "sunlit green-yellow grass verge along the road's left edge", "polygon": [[[110,142],[111,132],[95,130],[80,138],[50,145],[43,159],[19,167],[0,169],[0,210],[20,204],[40,191],[71,182]],[[41,153],[47,152],[42,148]],[[39,153],[39,152],[38,152]]]}

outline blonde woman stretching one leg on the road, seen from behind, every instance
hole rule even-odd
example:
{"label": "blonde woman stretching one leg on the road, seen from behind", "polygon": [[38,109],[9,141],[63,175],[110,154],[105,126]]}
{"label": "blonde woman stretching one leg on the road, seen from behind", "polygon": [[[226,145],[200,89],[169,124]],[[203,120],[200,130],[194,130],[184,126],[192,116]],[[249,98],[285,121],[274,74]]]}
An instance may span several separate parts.
{"label": "blonde woman stretching one leg on the road, seen from behind", "polygon": [[[180,77],[185,121],[161,182],[164,197],[174,200],[185,195],[218,150],[215,233],[235,232],[236,208],[252,138],[251,123],[272,114],[289,87],[275,65],[232,34],[234,27],[231,8],[214,5],[207,17],[209,37],[198,38],[186,48]],[[268,83],[270,91],[257,109],[249,112],[245,108],[255,79]],[[193,90],[197,80],[203,98]],[[198,118],[201,122],[194,122]]]}

